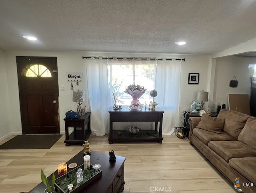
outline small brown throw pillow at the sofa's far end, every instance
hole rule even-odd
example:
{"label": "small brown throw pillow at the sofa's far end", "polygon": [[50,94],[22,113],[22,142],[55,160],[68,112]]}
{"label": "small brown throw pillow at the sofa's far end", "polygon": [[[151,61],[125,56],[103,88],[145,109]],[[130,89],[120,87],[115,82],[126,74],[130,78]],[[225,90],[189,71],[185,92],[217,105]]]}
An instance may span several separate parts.
{"label": "small brown throw pillow at the sofa's far end", "polygon": [[221,133],[221,130],[223,129],[224,126],[224,122],[224,118],[211,117],[208,114],[203,113],[201,120],[198,123],[198,126],[196,126],[196,128],[200,128],[214,133]]}

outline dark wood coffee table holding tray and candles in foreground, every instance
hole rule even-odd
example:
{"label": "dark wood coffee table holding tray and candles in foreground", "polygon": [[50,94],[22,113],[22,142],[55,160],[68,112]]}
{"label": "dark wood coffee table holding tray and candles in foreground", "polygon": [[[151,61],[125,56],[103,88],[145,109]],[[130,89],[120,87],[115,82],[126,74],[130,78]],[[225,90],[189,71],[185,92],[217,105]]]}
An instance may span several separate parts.
{"label": "dark wood coffee table holding tray and candles in foreground", "polygon": [[[76,154],[66,163],[77,163],[77,165],[83,164],[84,150]],[[101,152],[91,151],[90,162],[92,165],[99,163],[101,165],[102,176],[86,187],[82,189],[81,193],[120,193],[124,190],[124,161],[125,158],[121,156],[116,156],[116,162],[109,161],[109,155]],[[72,169],[68,168],[68,171]],[[59,177],[57,170],[54,175]],[[52,175],[48,178],[48,181],[52,181]],[[50,184],[51,185],[51,184]],[[46,189],[46,186],[41,182],[30,193],[42,193]]]}

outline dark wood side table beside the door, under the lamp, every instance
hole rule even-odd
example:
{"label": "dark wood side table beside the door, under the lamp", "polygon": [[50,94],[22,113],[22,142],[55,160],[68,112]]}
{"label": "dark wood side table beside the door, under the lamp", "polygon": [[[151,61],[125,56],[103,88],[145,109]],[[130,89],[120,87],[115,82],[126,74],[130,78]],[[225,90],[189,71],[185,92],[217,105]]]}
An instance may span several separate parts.
{"label": "dark wood side table beside the door, under the lamp", "polygon": [[[66,134],[64,143],[66,143],[66,146],[70,146],[70,144],[84,144],[84,141],[86,141],[92,133],[90,128],[90,118],[91,112],[87,112],[84,116],[81,115],[76,119],[64,118]],[[86,124],[87,130],[85,130]],[[74,128],[74,131],[69,135],[68,128],[70,127]],[[77,128],[81,128],[81,130]]]}

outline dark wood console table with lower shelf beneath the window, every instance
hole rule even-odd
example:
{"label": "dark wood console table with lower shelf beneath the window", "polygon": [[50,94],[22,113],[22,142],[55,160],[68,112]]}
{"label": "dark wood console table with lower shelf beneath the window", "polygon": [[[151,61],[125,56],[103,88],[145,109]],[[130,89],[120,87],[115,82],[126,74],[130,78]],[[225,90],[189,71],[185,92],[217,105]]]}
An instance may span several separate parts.
{"label": "dark wood console table with lower shelf beneath the window", "polygon": [[[162,143],[162,124],[164,111],[159,107],[155,110],[129,110],[128,106],[122,106],[120,110],[109,108],[109,138],[108,143],[113,142],[158,142]],[[155,122],[154,130],[141,130],[138,134],[129,134],[126,130],[113,130],[113,122]],[[158,131],[159,122],[159,131]],[[119,133],[118,133],[119,132]]]}

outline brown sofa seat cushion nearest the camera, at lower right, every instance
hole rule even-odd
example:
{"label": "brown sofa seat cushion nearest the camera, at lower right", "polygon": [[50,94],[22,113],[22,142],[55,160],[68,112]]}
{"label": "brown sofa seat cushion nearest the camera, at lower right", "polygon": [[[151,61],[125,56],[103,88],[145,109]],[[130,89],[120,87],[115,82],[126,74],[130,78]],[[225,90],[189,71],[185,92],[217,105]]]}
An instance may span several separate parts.
{"label": "brown sofa seat cushion nearest the camera, at lower right", "polygon": [[232,158],[228,165],[256,184],[256,158]]}

